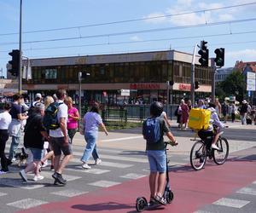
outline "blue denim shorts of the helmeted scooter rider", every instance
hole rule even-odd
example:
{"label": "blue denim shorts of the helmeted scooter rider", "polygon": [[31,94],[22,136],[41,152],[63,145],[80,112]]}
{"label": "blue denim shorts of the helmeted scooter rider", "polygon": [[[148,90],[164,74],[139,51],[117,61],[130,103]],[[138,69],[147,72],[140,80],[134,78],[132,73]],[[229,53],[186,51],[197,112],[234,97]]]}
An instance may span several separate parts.
{"label": "blue denim shorts of the helmeted scooter rider", "polygon": [[147,150],[147,154],[151,172],[166,172],[165,150]]}

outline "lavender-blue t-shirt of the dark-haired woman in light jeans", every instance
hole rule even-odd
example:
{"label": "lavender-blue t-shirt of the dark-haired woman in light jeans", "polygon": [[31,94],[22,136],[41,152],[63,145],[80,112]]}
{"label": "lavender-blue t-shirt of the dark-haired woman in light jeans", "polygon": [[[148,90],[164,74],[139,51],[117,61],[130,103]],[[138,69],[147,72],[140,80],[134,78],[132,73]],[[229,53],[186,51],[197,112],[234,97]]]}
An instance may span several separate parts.
{"label": "lavender-blue t-shirt of the dark-haired woman in light jeans", "polygon": [[102,124],[102,118],[96,112],[86,112],[84,115],[84,123],[84,132],[94,133],[98,131],[98,126]]}

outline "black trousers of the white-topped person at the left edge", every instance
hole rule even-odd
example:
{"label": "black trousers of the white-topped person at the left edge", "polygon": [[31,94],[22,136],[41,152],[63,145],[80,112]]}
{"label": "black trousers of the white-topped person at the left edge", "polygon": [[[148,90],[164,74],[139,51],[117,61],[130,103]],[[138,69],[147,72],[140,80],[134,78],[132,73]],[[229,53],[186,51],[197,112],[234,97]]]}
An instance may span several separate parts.
{"label": "black trousers of the white-topped person at the left edge", "polygon": [[0,158],[3,171],[8,171],[8,165],[10,164],[9,159],[6,158],[4,153],[6,141],[8,140],[8,138],[8,130],[0,130]]}

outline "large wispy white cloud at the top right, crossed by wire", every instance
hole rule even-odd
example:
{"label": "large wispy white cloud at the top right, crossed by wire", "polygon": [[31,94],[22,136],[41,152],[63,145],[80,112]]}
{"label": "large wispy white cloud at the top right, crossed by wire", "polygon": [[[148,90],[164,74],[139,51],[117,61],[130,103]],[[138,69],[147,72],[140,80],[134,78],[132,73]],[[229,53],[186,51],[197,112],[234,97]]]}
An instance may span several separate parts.
{"label": "large wispy white cloud at the top right, crossed by wire", "polygon": [[[251,1],[243,1],[242,3],[253,3]],[[154,17],[159,15],[170,15],[170,14],[181,14],[173,15],[171,17],[161,17],[159,19],[146,20],[146,22],[151,24],[159,23],[172,23],[174,26],[186,26],[186,25],[196,25],[203,23],[211,23],[218,21],[228,21],[239,19],[240,14],[248,13],[249,11],[255,11],[256,5],[252,4],[247,7],[236,7],[230,9],[218,9],[230,5],[238,5],[240,2],[235,2],[231,0],[219,1],[218,3],[201,3],[196,0],[177,0],[176,3],[172,3],[172,7],[167,8],[164,12],[157,12],[148,14],[146,17]],[[204,9],[217,9],[213,11],[205,11],[201,13],[194,14],[182,14],[185,12],[192,12],[196,10]]]}

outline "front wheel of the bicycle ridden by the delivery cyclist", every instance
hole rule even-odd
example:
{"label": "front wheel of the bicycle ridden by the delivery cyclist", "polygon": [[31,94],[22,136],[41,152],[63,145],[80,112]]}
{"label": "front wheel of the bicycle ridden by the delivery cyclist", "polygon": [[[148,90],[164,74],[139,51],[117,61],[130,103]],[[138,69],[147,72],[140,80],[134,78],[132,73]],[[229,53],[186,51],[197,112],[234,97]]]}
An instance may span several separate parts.
{"label": "front wheel of the bicycle ridden by the delivery cyclist", "polygon": [[218,139],[216,145],[219,148],[219,150],[214,150],[213,161],[215,162],[215,164],[218,165],[224,164],[224,162],[229,156],[229,142],[227,141],[227,139],[222,137]]}

